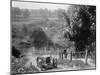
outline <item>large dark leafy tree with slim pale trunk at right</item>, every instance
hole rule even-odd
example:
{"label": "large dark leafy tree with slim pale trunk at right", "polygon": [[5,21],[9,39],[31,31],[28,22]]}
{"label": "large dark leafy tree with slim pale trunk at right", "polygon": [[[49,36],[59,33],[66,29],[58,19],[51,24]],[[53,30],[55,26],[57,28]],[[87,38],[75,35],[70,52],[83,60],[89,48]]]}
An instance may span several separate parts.
{"label": "large dark leafy tree with slim pale trunk at right", "polygon": [[96,7],[74,6],[72,8],[73,10],[70,11],[74,13],[70,16],[65,14],[66,21],[70,20],[70,30],[65,33],[67,35],[65,37],[75,42],[76,51],[89,51],[90,45],[96,42]]}

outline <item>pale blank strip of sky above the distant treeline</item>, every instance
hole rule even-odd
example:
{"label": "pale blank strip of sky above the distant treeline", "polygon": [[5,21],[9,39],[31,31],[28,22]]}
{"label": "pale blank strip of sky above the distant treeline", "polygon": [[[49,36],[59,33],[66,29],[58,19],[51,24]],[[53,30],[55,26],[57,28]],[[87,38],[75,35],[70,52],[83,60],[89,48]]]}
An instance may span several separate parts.
{"label": "pale blank strip of sky above the distant treeline", "polygon": [[12,1],[12,7],[19,7],[19,8],[27,8],[27,9],[40,9],[40,8],[47,8],[49,10],[55,10],[58,8],[67,10],[69,5],[63,4],[48,4],[48,3],[36,3],[36,2],[21,2],[21,1]]}

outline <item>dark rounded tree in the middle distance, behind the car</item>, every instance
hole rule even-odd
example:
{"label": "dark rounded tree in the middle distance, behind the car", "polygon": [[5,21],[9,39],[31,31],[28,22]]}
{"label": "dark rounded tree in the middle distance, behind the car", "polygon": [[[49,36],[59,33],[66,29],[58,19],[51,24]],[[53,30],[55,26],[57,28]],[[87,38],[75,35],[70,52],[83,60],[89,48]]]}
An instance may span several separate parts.
{"label": "dark rounded tree in the middle distance, behind the car", "polygon": [[46,47],[49,40],[42,28],[36,28],[32,32],[31,39],[33,41],[34,47],[37,49]]}

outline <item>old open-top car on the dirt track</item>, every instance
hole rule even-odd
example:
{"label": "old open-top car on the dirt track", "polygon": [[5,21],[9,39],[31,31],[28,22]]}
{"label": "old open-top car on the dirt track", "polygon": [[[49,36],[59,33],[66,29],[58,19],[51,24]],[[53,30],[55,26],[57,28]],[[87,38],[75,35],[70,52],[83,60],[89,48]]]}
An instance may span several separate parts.
{"label": "old open-top car on the dirt track", "polygon": [[37,66],[43,70],[57,68],[57,59],[49,55],[37,57]]}

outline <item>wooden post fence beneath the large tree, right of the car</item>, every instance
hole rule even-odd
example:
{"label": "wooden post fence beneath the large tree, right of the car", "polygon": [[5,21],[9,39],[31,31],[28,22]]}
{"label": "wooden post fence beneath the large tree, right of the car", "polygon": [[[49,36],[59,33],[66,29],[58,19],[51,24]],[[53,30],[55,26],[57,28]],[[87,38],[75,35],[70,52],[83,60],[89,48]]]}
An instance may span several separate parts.
{"label": "wooden post fence beneath the large tree, right of the car", "polygon": [[86,51],[81,51],[81,52],[69,52],[69,53],[65,53],[65,52],[60,52],[59,53],[59,58],[60,59],[69,59],[70,61],[72,61],[73,59],[82,59],[84,60],[84,63],[87,64],[89,55],[88,55],[88,50]]}

